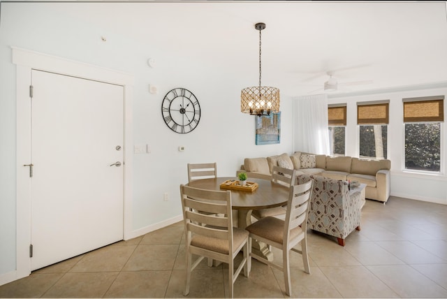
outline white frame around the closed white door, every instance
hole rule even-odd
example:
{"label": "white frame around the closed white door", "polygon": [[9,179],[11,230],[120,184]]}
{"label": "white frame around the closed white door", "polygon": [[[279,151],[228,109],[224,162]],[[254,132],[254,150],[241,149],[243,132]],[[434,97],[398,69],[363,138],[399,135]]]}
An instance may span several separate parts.
{"label": "white frame around the closed white door", "polygon": [[15,279],[27,277],[31,273],[31,184],[29,168],[24,164],[31,162],[31,105],[29,85],[31,69],[71,75],[124,87],[124,240],[131,236],[132,230],[132,173],[133,173],[133,134],[132,97],[133,75],[110,70],[78,61],[54,57],[30,50],[12,48],[13,64],[17,69],[17,210],[16,210],[16,273]]}

